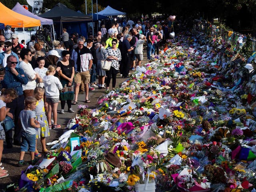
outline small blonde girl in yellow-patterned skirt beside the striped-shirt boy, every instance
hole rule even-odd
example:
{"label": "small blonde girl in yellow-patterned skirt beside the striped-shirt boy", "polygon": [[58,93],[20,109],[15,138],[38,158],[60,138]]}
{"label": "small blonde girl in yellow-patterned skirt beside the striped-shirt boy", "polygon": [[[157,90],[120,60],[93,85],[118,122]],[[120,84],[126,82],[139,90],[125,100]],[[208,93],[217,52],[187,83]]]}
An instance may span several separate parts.
{"label": "small blonde girl in yellow-patterned skirt beside the striped-shirt boy", "polygon": [[46,149],[46,142],[45,138],[50,136],[49,132],[49,125],[48,121],[45,115],[45,110],[44,110],[44,88],[42,87],[36,87],[34,90],[34,97],[36,98],[36,108],[35,108],[35,113],[36,113],[36,120],[44,122],[41,125],[41,128],[38,129],[38,132],[36,132],[36,151],[35,151],[35,156],[36,157],[41,157],[42,155],[38,152],[37,150],[37,139],[40,138],[41,144],[42,144],[42,153],[48,153],[49,151]]}

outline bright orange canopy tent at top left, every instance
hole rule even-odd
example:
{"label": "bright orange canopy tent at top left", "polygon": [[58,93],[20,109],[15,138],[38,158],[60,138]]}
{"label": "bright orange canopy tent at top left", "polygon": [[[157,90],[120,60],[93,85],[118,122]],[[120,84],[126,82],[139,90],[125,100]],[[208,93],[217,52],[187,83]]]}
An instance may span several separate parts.
{"label": "bright orange canopy tent at top left", "polygon": [[22,14],[16,13],[10,10],[0,2],[1,17],[0,22],[5,25],[10,25],[12,27],[34,27],[40,26],[41,22],[38,19],[34,19]]}

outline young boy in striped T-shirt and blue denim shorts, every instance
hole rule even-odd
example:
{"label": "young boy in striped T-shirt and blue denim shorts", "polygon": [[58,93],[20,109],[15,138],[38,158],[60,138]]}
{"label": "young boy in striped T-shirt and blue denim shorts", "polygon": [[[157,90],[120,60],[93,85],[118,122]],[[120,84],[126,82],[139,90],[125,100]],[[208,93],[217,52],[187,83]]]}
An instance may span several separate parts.
{"label": "young boy in striped T-shirt and blue denim shorts", "polygon": [[20,112],[19,125],[21,126],[21,140],[20,146],[20,161],[18,166],[26,166],[29,163],[24,161],[26,151],[30,152],[31,164],[36,163],[35,150],[36,150],[36,128],[40,128],[40,124],[35,120],[36,114],[33,111],[36,108],[36,98],[26,97],[25,109]]}

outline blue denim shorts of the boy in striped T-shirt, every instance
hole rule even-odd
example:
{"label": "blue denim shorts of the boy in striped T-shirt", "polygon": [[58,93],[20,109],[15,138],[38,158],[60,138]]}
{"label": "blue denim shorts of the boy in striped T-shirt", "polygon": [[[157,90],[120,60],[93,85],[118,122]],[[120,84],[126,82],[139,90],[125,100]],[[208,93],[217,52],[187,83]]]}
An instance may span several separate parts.
{"label": "blue denim shorts of the boy in striped T-shirt", "polygon": [[21,133],[20,151],[35,152],[36,150],[36,134],[31,135],[26,132]]}

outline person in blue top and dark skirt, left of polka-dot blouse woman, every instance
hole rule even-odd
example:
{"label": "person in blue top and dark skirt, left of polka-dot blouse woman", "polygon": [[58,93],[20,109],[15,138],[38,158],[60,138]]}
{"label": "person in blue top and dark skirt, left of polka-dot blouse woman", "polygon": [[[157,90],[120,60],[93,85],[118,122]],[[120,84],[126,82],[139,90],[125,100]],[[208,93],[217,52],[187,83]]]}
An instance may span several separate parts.
{"label": "person in blue top and dark skirt, left of polka-dot blouse woman", "polygon": [[104,81],[106,76],[106,71],[101,69],[100,61],[106,59],[106,49],[105,49],[106,43],[102,42],[101,46],[96,49],[96,57],[97,57],[97,74],[98,74],[98,89],[104,88]]}

